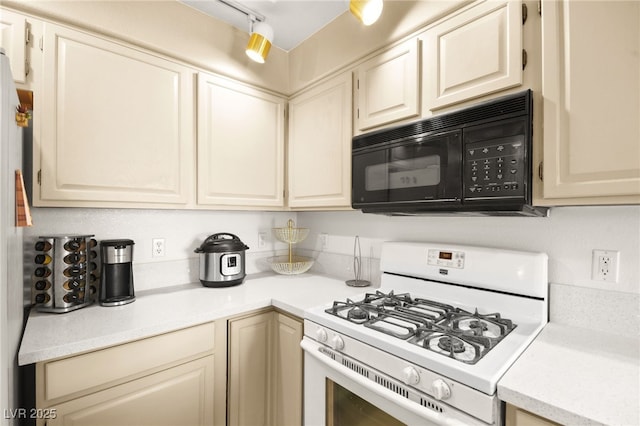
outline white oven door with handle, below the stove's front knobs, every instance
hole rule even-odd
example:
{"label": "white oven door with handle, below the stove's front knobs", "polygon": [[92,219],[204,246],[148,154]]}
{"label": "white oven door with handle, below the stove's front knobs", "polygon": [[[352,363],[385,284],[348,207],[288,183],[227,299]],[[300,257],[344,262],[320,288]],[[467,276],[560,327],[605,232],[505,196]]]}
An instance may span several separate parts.
{"label": "white oven door with handle, below the stove's front knobs", "polygon": [[357,367],[348,368],[323,354],[322,345],[308,337],[301,346],[306,426],[486,425],[451,407],[430,410],[412,402],[400,395],[405,393],[402,384],[394,386],[395,380],[386,376],[378,379],[382,384],[366,379]]}

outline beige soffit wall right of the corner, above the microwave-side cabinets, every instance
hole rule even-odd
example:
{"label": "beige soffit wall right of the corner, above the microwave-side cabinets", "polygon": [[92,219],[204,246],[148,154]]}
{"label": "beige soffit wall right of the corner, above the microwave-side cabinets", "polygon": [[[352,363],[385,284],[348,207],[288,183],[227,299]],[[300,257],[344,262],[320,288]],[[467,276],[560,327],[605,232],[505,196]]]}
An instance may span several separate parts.
{"label": "beige soffit wall right of the corner, above the microwave-side cabinets", "polygon": [[346,12],[289,52],[289,89],[295,93],[469,2],[385,0],[382,16],[369,27]]}

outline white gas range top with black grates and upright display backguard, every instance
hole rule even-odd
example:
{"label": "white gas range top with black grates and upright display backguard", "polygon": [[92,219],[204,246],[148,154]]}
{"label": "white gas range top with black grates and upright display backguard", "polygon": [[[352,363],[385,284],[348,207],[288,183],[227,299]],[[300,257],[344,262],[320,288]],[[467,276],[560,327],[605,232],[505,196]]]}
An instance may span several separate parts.
{"label": "white gas range top with black grates and upright display backguard", "polygon": [[371,350],[338,350],[372,368],[384,370],[382,351],[495,395],[548,321],[544,253],[386,242],[380,269],[379,289],[307,310],[305,336],[347,336]]}

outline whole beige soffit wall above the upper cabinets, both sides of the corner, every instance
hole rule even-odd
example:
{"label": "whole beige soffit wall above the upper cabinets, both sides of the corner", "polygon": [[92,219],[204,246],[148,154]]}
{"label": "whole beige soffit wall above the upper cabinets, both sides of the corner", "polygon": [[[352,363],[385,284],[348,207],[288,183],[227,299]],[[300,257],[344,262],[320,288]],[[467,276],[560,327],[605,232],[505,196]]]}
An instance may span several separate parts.
{"label": "whole beige soffit wall above the upper cabinets, both sides of the corner", "polygon": [[244,54],[248,31],[173,0],[3,0],[3,5],[116,37],[278,93],[293,94],[469,2],[386,0],[382,17],[370,27],[345,12],[290,52],[272,48],[265,64],[256,64]]}

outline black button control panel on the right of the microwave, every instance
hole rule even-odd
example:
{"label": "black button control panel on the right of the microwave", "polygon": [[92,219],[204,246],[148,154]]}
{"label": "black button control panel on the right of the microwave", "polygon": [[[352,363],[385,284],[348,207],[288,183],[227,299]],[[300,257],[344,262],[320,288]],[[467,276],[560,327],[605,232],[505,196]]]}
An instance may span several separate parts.
{"label": "black button control panel on the right of the microwave", "polygon": [[466,144],[464,197],[525,197],[525,153],[522,137]]}

